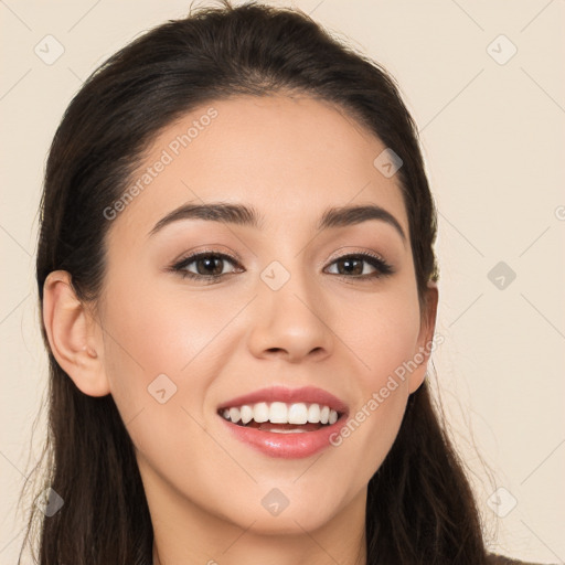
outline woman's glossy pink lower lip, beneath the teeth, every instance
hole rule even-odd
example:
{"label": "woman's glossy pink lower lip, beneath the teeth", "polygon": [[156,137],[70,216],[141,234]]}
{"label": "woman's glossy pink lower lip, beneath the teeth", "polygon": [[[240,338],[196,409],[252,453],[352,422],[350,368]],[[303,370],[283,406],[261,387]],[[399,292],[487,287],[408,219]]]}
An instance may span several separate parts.
{"label": "woman's glossy pink lower lip, beneath the teeth", "polygon": [[345,415],[342,415],[334,424],[323,426],[316,431],[277,434],[276,431],[260,431],[255,428],[238,426],[222,416],[218,417],[239,441],[269,457],[280,457],[282,459],[310,457],[329,447],[332,445],[330,436],[338,435],[348,419]]}

